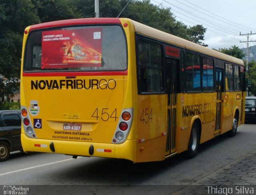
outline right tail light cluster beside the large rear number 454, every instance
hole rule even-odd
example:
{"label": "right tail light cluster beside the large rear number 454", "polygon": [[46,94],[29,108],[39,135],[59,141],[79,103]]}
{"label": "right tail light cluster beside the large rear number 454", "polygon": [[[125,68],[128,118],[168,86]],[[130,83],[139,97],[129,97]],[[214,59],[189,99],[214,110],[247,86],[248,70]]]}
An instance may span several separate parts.
{"label": "right tail light cluster beside the large rear number 454", "polygon": [[133,108],[123,109],[116,125],[112,143],[124,143],[132,126]]}

